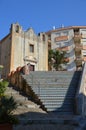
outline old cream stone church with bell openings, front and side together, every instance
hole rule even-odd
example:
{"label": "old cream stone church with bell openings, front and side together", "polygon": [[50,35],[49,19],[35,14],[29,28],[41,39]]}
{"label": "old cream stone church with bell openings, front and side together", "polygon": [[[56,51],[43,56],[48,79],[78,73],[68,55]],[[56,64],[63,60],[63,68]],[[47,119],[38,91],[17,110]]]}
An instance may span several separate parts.
{"label": "old cream stone church with bell openings, front and side together", "polygon": [[24,31],[18,23],[12,24],[9,34],[0,41],[0,64],[4,66],[3,76],[26,64],[31,71],[47,71],[46,34],[36,35],[32,28]]}

